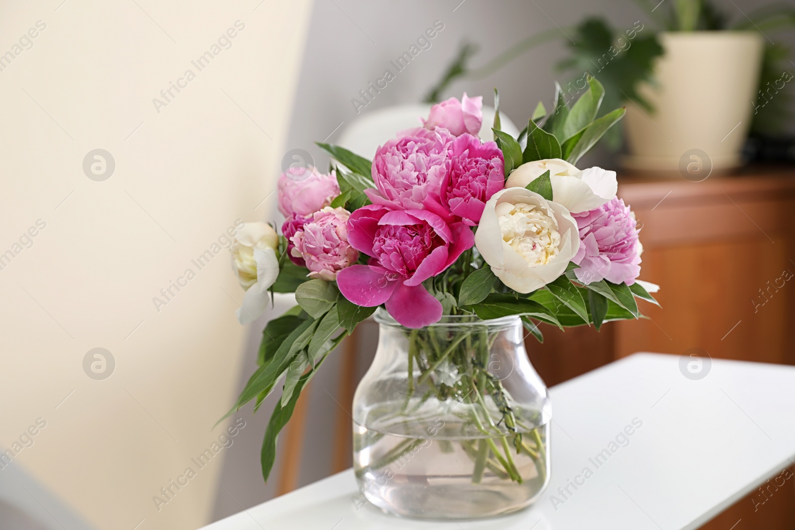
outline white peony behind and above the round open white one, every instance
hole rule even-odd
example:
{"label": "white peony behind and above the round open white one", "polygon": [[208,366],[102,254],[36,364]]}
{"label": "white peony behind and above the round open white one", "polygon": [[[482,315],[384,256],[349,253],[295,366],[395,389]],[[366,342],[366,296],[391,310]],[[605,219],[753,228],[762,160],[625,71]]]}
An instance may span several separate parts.
{"label": "white peony behind and above the round open white one", "polygon": [[615,197],[619,182],[615,171],[603,168],[588,168],[580,171],[560,158],[527,162],[510,173],[506,188],[525,188],[549,169],[552,182],[552,198],[563,204],[572,214],[591,211]]}

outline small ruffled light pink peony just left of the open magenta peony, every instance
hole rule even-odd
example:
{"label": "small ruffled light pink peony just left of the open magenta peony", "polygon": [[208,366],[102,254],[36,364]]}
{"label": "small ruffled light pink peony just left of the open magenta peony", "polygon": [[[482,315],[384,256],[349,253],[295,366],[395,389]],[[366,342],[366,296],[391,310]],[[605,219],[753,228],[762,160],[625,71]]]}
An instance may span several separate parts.
{"label": "small ruffled light pink peony just left of the open magenta peony", "polygon": [[291,253],[304,258],[309,277],[335,280],[339,271],[359,259],[359,253],[347,239],[346,222],[350,215],[345,208],[324,207],[291,238],[295,246]]}

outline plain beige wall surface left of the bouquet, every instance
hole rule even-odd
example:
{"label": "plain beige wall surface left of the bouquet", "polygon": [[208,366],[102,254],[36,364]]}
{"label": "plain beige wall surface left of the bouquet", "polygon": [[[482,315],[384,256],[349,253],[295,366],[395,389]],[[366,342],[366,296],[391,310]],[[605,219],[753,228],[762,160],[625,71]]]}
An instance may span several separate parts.
{"label": "plain beige wall surface left of the bouquet", "polygon": [[[0,54],[46,25],[0,72],[0,253],[21,250],[0,270],[0,448],[42,418],[14,461],[90,524],[197,528],[231,449],[203,470],[191,458],[223,429],[244,332],[227,250],[191,260],[235,219],[268,217],[311,3],[61,2],[0,6]],[[200,72],[191,61],[238,20]],[[92,149],[114,157],[109,179],[84,174]],[[185,269],[196,277],[158,311]],[[83,371],[95,347],[115,359],[103,381]],[[188,466],[158,512],[153,495]]]}

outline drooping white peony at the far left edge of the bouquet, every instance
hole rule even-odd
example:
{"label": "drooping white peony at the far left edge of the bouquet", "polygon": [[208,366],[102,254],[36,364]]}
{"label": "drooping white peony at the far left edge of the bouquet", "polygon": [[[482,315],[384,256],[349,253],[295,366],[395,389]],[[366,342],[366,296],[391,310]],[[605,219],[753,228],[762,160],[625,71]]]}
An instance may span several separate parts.
{"label": "drooping white peony at the far left edge of the bouquet", "polygon": [[252,322],[268,306],[268,289],[279,276],[278,247],[276,230],[264,222],[246,222],[235,236],[230,249],[232,270],[246,289],[236,313],[241,324]]}

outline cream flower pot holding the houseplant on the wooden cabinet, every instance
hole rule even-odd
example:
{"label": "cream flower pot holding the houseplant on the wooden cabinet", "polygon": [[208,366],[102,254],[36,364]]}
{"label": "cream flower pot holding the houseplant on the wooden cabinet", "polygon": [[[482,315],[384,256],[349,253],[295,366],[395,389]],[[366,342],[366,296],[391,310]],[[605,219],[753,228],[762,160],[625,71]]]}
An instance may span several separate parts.
{"label": "cream flower pot holding the houseplant on the wooden cabinet", "polygon": [[624,165],[661,171],[686,168],[692,161],[711,170],[738,166],[757,98],[762,36],[661,33],[660,41],[665,55],[654,66],[657,86],[640,88],[654,110],[626,106],[630,154]]}

